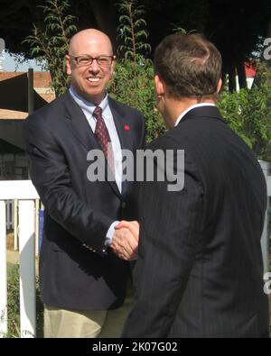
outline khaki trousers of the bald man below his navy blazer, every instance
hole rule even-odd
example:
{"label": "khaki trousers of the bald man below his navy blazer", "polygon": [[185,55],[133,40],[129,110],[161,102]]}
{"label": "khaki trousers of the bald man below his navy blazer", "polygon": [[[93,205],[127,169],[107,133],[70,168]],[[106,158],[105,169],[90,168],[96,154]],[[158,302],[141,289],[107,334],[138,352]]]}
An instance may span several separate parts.
{"label": "khaki trousers of the bald man below his navy blazer", "polygon": [[130,304],[86,311],[44,306],[44,338],[119,338],[130,310]]}

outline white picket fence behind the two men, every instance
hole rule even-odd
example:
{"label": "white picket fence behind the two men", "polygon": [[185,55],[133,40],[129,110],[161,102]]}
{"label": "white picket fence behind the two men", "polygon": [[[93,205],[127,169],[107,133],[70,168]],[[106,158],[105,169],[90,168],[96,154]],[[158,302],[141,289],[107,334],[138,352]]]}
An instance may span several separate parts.
{"label": "white picket fence behind the two men", "polygon": [[[260,161],[266,176],[267,196],[271,196],[271,165]],[[39,196],[29,180],[0,181],[0,337],[7,332],[6,277],[6,200],[18,199],[18,234],[20,252],[20,330],[22,338],[36,335],[35,306],[35,231],[37,216],[35,201]],[[265,273],[269,271],[269,234],[266,222],[262,236]],[[15,227],[15,226],[14,226]]]}

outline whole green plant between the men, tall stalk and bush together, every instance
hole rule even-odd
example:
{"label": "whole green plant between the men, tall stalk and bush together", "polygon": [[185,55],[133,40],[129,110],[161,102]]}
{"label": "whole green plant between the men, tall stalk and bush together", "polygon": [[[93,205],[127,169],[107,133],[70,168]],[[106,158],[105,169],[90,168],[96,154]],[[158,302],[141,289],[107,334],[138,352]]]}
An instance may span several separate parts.
{"label": "whole green plant between the men, tall stalk and bush together", "polygon": [[151,50],[142,18],[145,9],[137,0],[121,0],[118,10],[121,14],[118,32],[124,44],[117,51],[124,55],[124,59],[117,61],[109,91],[117,100],[145,114],[146,139],[152,141],[164,132],[164,122],[155,107],[153,63],[145,59]]}

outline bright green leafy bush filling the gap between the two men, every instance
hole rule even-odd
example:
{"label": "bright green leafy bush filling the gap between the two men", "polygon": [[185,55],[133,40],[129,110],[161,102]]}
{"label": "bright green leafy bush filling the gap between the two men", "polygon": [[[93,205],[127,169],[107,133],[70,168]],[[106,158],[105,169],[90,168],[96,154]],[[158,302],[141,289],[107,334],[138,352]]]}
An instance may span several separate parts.
{"label": "bright green leafy bush filling the gap between the two men", "polygon": [[117,100],[145,114],[147,141],[164,132],[163,119],[155,107],[154,69],[150,62],[145,65],[127,59],[118,62],[108,91]]}

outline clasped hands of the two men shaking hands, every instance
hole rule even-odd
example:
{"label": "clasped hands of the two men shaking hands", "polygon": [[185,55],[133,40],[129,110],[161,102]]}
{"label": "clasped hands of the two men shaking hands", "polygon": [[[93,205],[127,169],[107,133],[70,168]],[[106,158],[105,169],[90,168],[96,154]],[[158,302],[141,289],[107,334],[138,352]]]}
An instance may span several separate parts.
{"label": "clasped hands of the two men shaking hands", "polygon": [[115,227],[110,248],[122,260],[136,260],[139,239],[139,224],[122,221]]}

